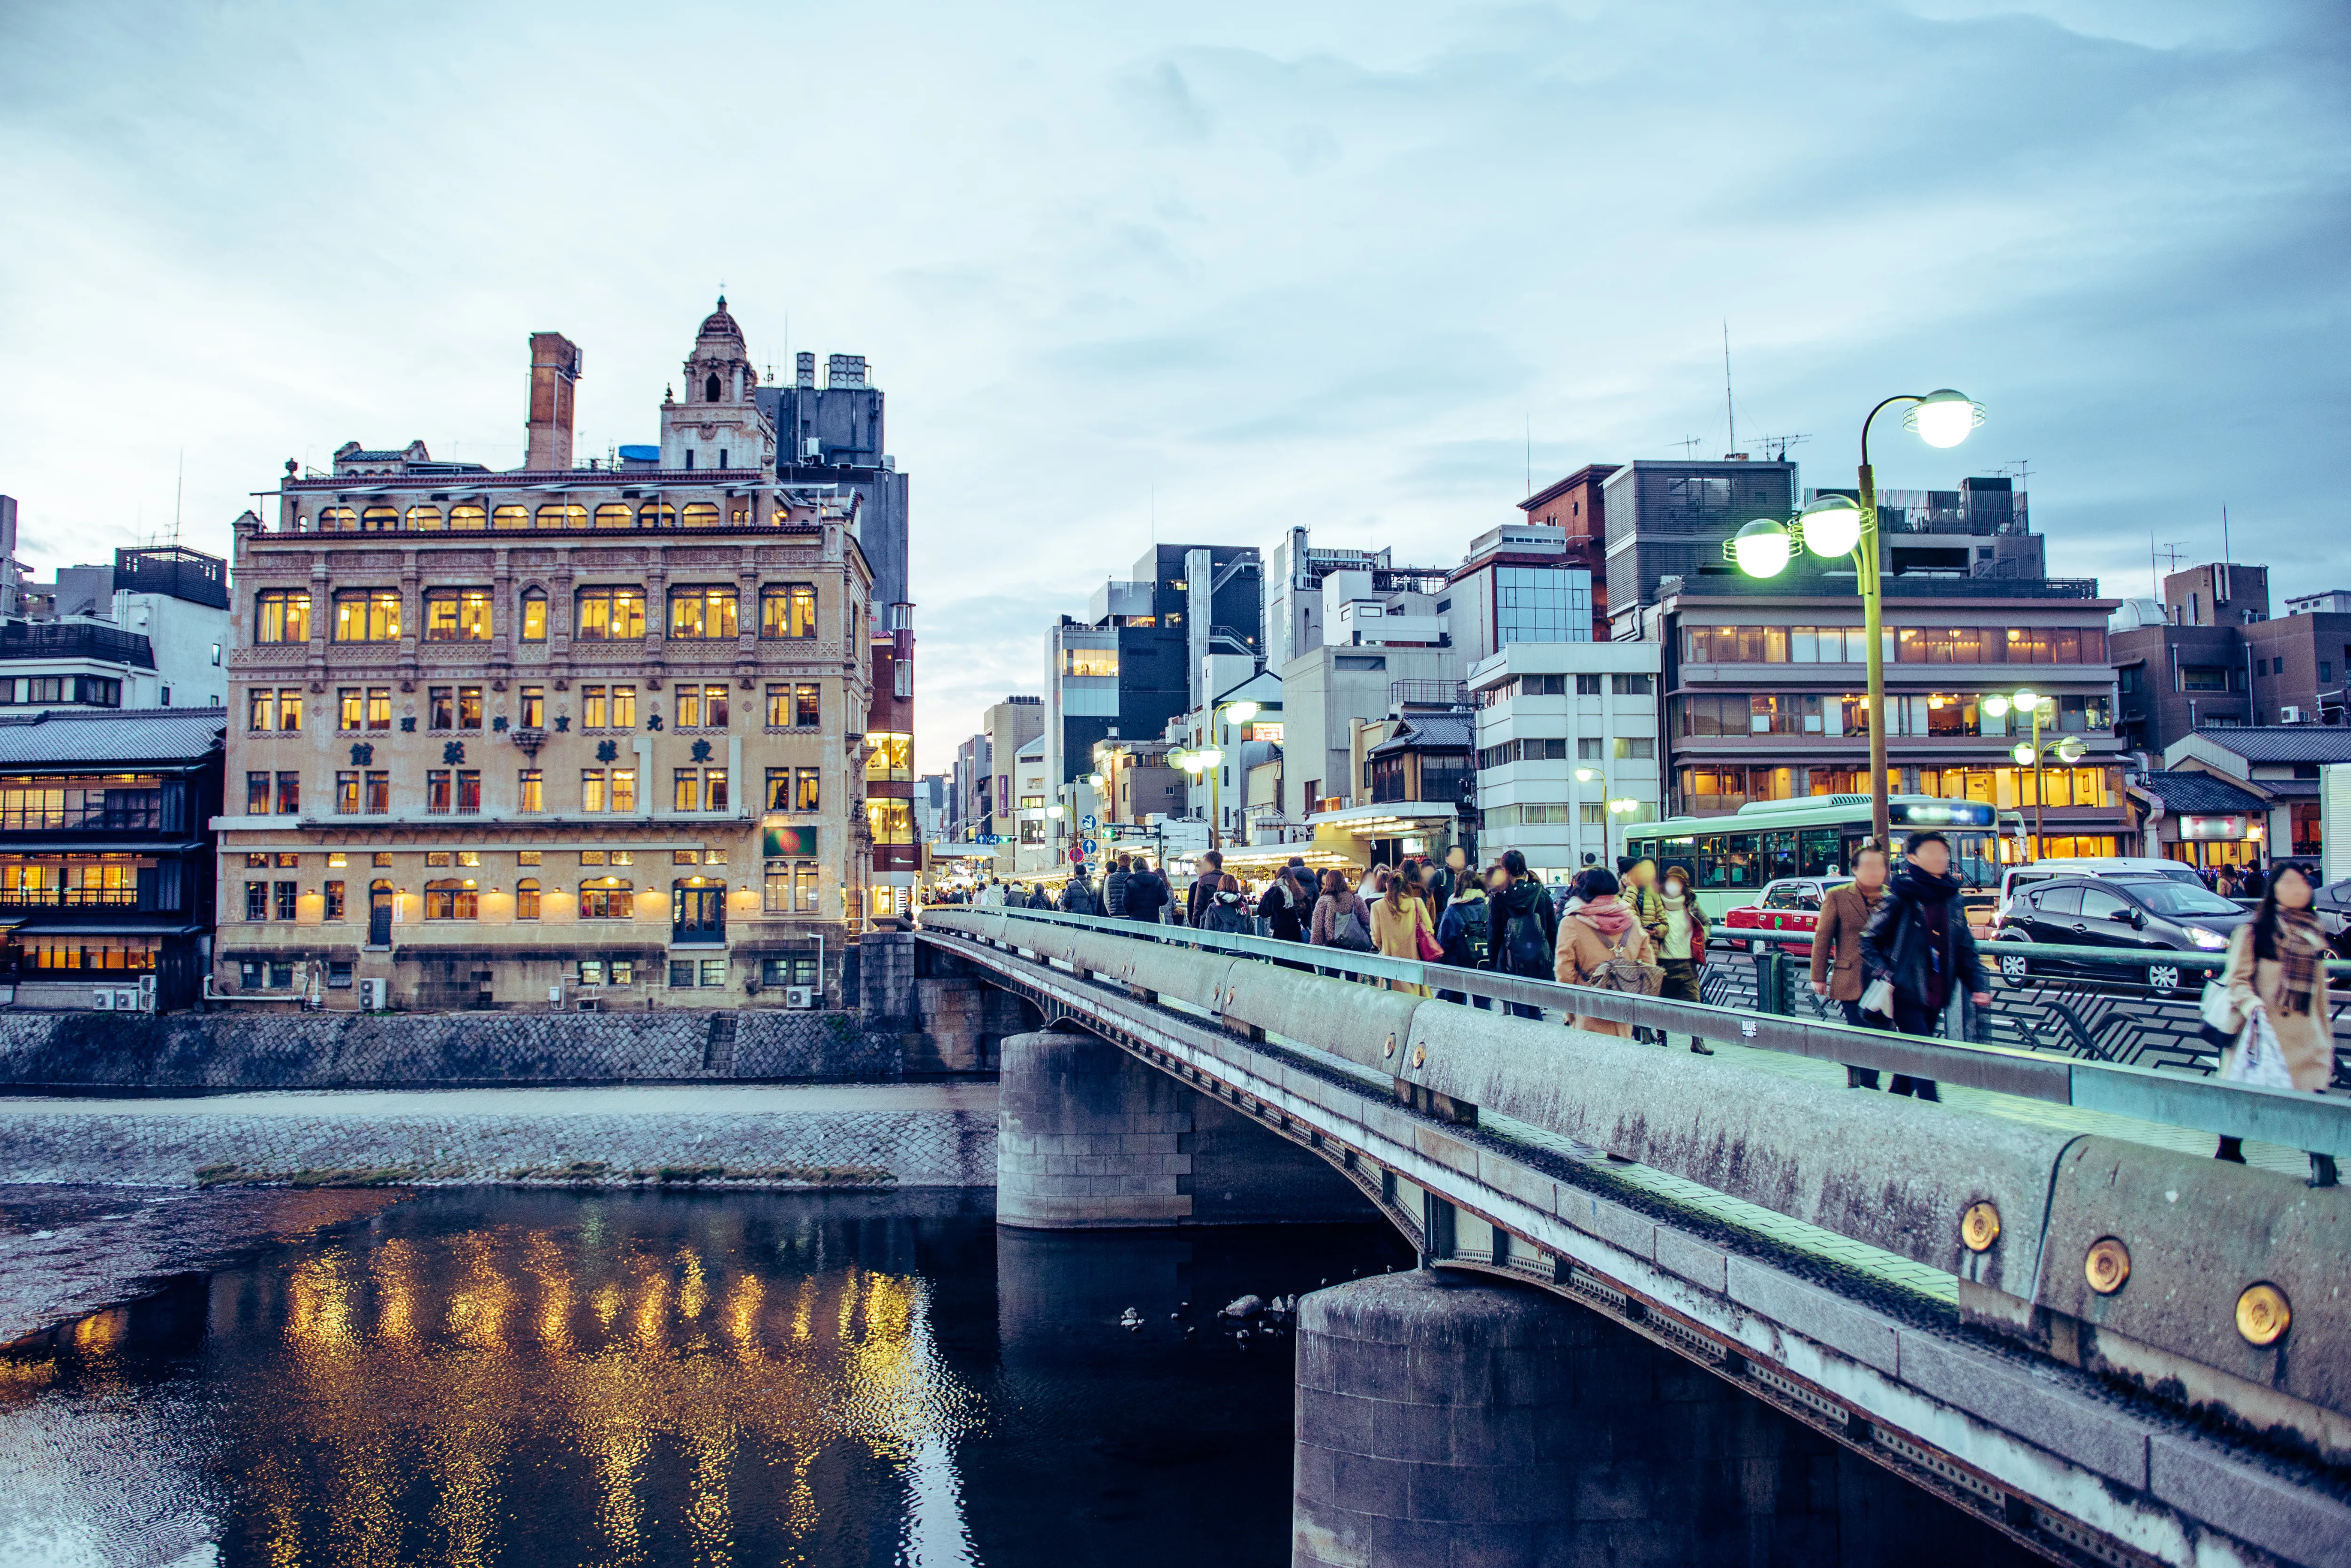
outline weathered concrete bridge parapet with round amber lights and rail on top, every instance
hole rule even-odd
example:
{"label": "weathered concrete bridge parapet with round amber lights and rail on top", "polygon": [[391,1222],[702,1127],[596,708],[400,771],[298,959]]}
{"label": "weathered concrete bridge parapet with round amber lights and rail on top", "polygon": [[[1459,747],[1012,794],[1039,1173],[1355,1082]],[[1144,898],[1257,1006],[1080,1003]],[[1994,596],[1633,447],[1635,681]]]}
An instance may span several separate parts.
{"label": "weathered concrete bridge parapet with round amber lights and rail on top", "polygon": [[[2241,1439],[2283,1443],[2325,1467],[2351,1462],[2351,1197],[2342,1187],[2081,1131],[2064,1117],[2036,1124],[1824,1091],[1507,1016],[1500,1004],[1613,1016],[2325,1154],[2351,1152],[2351,1107],[2335,1100],[1262,938],[1025,910],[933,910],[924,929],[1032,954],[1053,973],[1107,987],[1105,997],[1176,1009],[1227,1039],[1331,1058],[1439,1126],[1523,1124],[1937,1269],[1956,1281],[1965,1331],[2130,1385]],[[1439,1001],[1413,985],[1495,1006]],[[1086,1020],[1081,994],[1065,1009]],[[1526,1180],[1507,1159],[1469,1164],[1465,1180],[1472,1192],[1491,1187],[1491,1213]],[[1568,1187],[1533,1185],[1561,1204],[1568,1197]],[[1594,1222],[1601,1208],[1592,1204]]]}

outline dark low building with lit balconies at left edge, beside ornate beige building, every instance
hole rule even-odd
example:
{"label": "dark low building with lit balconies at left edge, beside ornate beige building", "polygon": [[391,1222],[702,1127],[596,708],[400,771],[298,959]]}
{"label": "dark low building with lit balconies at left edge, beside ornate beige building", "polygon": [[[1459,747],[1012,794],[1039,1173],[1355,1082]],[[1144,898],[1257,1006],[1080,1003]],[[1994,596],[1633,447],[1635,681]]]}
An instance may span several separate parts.
{"label": "dark low building with lit balconies at left edge, beside ornate beige building", "polygon": [[[0,715],[0,985],[14,1006],[115,1006],[141,980],[160,1009],[197,999],[226,719],[221,708]],[[245,875],[263,900],[294,898],[292,867]]]}

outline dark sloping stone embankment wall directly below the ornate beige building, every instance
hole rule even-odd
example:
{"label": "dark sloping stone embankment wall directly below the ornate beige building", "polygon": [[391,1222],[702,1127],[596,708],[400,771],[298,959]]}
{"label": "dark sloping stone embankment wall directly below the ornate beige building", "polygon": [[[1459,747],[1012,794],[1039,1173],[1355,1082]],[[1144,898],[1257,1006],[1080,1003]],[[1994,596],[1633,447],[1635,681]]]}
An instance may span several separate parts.
{"label": "dark sloping stone embankment wall directly below the ornate beige building", "polygon": [[952,1070],[858,1013],[24,1013],[0,1088],[233,1091],[858,1079]]}

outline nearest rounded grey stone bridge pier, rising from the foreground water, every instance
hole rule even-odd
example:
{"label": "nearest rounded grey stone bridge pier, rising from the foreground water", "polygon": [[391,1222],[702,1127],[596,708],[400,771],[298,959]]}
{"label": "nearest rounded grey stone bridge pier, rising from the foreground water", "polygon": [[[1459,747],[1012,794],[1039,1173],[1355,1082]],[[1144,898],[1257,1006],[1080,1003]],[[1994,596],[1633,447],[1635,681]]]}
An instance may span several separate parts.
{"label": "nearest rounded grey stone bridge pier, rising from the foreground water", "polygon": [[1549,1561],[1575,1528],[1587,1340],[1556,1295],[1436,1269],[1307,1295],[1293,1568]]}

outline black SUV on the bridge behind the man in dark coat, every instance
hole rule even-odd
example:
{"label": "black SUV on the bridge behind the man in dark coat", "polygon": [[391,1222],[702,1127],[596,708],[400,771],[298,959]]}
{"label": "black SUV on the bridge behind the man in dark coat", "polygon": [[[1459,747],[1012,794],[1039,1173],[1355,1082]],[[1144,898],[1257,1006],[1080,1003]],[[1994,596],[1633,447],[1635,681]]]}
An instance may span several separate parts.
{"label": "black SUV on the bridge behind the man in dark coat", "polygon": [[[2208,973],[2219,973],[2229,933],[2248,919],[2252,919],[2252,910],[2245,905],[2175,877],[2050,877],[2010,900],[2008,919],[2001,922],[2001,940],[2196,954],[2201,964],[2193,966],[2146,964],[2149,990],[2172,992],[2179,990],[2182,978],[2203,980]],[[2022,980],[2027,973],[2137,980],[2123,966],[2001,954],[2003,978]]]}

